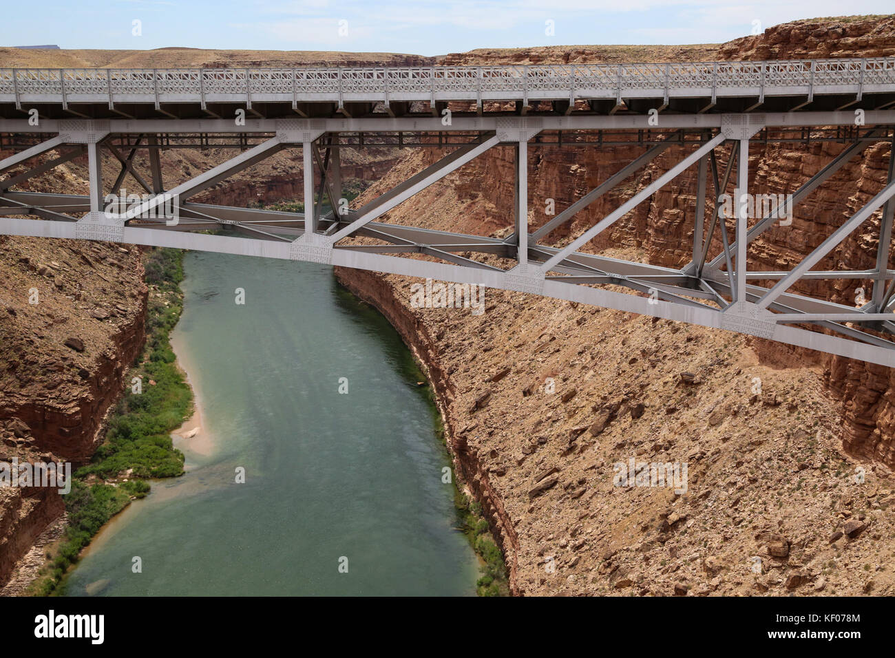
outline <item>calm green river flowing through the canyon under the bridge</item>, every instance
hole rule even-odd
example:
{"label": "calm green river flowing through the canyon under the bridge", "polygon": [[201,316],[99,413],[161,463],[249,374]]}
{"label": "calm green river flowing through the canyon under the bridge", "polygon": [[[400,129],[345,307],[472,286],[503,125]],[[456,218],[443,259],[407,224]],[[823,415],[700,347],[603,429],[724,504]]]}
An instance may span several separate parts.
{"label": "calm green river flowing through the canyon under the bridge", "polygon": [[434,410],[388,322],[328,266],[190,252],[185,269],[187,473],[98,534],[66,594],[475,594]]}

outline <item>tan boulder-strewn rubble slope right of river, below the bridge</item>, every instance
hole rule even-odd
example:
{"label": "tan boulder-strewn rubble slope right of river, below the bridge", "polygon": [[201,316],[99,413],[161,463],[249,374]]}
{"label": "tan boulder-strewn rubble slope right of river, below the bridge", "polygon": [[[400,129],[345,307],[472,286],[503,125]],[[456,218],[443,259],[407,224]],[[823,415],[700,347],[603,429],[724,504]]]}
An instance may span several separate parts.
{"label": "tan boulder-strewn rubble slope right of river, below the bridge", "polygon": [[[895,481],[865,465],[857,483],[819,369],[574,303],[489,290],[474,316],[411,308],[409,279],[338,277],[427,365],[515,594],[895,592]],[[686,493],[614,486],[632,458],[686,463]]]}

